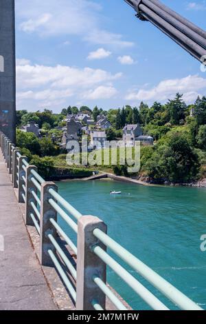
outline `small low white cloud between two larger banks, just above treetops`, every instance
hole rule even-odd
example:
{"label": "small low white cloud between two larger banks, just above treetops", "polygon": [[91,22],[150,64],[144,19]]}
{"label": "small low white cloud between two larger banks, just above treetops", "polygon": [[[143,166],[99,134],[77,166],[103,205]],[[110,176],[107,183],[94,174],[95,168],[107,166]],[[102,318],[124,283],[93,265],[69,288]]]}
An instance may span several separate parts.
{"label": "small low white cloud between two larger banks, just above treetops", "polygon": [[116,94],[117,90],[112,86],[100,85],[100,87],[95,88],[95,90],[84,92],[83,98],[88,100],[111,99],[115,97]]}

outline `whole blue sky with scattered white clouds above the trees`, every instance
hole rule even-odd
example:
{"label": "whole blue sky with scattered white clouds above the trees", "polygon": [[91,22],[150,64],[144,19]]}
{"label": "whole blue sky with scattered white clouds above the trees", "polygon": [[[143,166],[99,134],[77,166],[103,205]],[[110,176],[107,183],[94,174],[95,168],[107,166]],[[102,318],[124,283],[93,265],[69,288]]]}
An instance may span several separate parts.
{"label": "whole blue sky with scattered white clouds above the trees", "polygon": [[[17,109],[165,102],[206,94],[206,72],[123,0],[16,0]],[[163,0],[206,29],[206,1]]]}

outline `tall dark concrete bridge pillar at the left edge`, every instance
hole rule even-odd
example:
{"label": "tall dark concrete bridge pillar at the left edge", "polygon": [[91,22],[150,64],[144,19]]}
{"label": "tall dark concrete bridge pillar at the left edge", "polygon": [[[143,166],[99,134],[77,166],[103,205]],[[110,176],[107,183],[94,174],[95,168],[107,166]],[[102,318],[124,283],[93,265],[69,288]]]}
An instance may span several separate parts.
{"label": "tall dark concrete bridge pillar at the left edge", "polygon": [[0,0],[0,130],[15,143],[15,23],[14,0]]}

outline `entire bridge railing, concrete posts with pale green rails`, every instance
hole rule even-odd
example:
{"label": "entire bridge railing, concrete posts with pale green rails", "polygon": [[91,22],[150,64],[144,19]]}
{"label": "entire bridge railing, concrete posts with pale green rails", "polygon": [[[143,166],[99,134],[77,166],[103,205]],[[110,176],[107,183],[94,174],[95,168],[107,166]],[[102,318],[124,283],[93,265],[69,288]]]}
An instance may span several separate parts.
{"label": "entire bridge railing, concrete posts with pale green rails", "polygon": [[[154,286],[168,301],[172,301],[175,307],[181,310],[202,310],[185,294],[111,239],[106,234],[107,227],[103,221],[94,216],[83,216],[65,201],[58,194],[57,185],[45,181],[38,174],[36,166],[30,165],[27,157],[22,156],[21,150],[2,132],[0,145],[13,186],[18,190],[19,203],[25,205],[25,225],[35,226],[39,235],[41,265],[56,267],[77,310],[105,310],[106,298],[115,309],[128,309],[128,304],[106,283],[107,267],[153,310],[169,310],[165,303],[126,270],[126,265]],[[77,246],[60,226],[60,218],[76,234]],[[124,266],[108,254],[107,249]],[[77,263],[73,262],[73,255],[77,257]]]}

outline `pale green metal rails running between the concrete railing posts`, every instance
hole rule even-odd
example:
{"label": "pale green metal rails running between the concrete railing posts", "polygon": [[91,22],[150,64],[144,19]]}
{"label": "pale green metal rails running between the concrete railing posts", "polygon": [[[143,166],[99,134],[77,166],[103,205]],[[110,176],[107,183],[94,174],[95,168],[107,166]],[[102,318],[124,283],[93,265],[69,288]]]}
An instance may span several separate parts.
{"label": "pale green metal rails running between the concrete railing posts", "polygon": [[[38,172],[34,169],[30,170],[30,179],[27,177],[27,170],[32,168],[29,163],[27,163],[26,159],[21,156],[18,152],[16,154],[17,158],[15,161],[15,150],[16,147],[10,143],[9,139],[0,132],[0,145],[1,150],[3,152],[3,156],[8,165],[8,170],[12,174],[12,179],[17,179],[17,184],[19,185],[19,199],[23,198],[23,203],[27,206],[29,204],[30,209],[30,219],[36,227],[36,231],[40,236],[42,236],[41,226],[42,221],[42,210],[43,203],[45,201],[45,197],[42,196],[43,186],[46,181],[38,174]],[[22,168],[20,168],[20,159],[22,159]],[[18,164],[16,174],[14,174],[14,170],[16,170],[16,163]],[[28,189],[28,181],[32,183],[33,187]],[[21,183],[22,181],[22,183]],[[28,192],[32,195],[32,199],[27,201]],[[54,190],[54,188],[49,188],[47,195],[49,198],[47,199],[47,203],[51,207],[51,210],[58,213],[58,216],[61,217],[68,227],[73,230],[73,232],[79,235],[79,223],[84,217],[78,210],[76,210],[72,205],[70,205],[65,199],[58,194]],[[31,211],[32,210],[32,211]],[[52,213],[51,213],[52,215]],[[82,257],[82,251],[78,251],[78,247],[75,243],[73,243],[72,239],[65,232],[65,230],[60,227],[57,219],[54,219],[53,216],[47,217],[47,222],[49,222],[51,228],[58,233],[58,235],[54,235],[51,231],[46,234],[47,239],[51,243],[52,248],[47,248],[47,254],[52,260],[53,265],[56,267],[60,278],[62,279],[65,287],[69,291],[71,298],[73,298],[74,303],[76,303],[78,298],[82,298],[82,296],[78,296],[78,292],[76,291],[76,287],[71,281],[68,273],[73,278],[73,281],[78,281],[78,269],[76,269],[76,265],[71,262],[72,254],[75,254],[78,257]],[[45,233],[44,233],[45,235]],[[106,252],[106,248],[111,250],[115,256],[122,260],[123,263],[128,265],[132,270],[135,270],[137,274],[142,276],[148,283],[153,285],[163,296],[165,296],[169,301],[174,303],[175,307],[179,307],[181,310],[202,310],[196,303],[194,303],[190,298],[185,296],[182,292],[176,289],[173,285],[171,285],[168,281],[165,281],[159,274],[154,272],[150,267],[141,262],[137,257],[128,252],[122,245],[111,239],[106,233],[104,233],[100,228],[94,228],[89,234],[96,239],[96,244],[90,246],[90,250],[95,255],[97,260],[103,262],[108,267],[113,270],[125,283],[128,285],[137,295],[141,297],[143,301],[147,305],[149,305],[153,310],[169,310],[168,306],[162,303],[162,301],[152,294],[148,288],[144,287],[122,264],[119,264],[111,255]],[[59,241],[60,240],[60,241]],[[67,243],[68,248],[65,250],[62,247],[62,241]],[[86,242],[88,243],[88,242]],[[101,246],[100,246],[101,245]],[[102,248],[102,246],[104,248]],[[52,250],[53,249],[53,250]],[[70,257],[69,257],[70,256]],[[84,258],[87,258],[87,255],[84,255]],[[64,265],[64,266],[63,266]],[[67,271],[65,271],[65,267],[67,267]],[[94,265],[95,267],[95,265]],[[91,282],[93,283],[93,287],[87,287],[88,294],[91,293],[89,289],[96,291],[98,289],[105,297],[107,297],[111,303],[115,306],[117,310],[127,310],[128,305],[120,298],[114,290],[106,284],[106,281],[100,278],[97,272],[96,274],[90,274],[88,269],[85,269],[87,272],[87,276],[91,275]],[[103,310],[102,305],[100,305],[100,301],[98,300],[98,296],[93,296],[91,299],[91,307],[93,310]]]}

